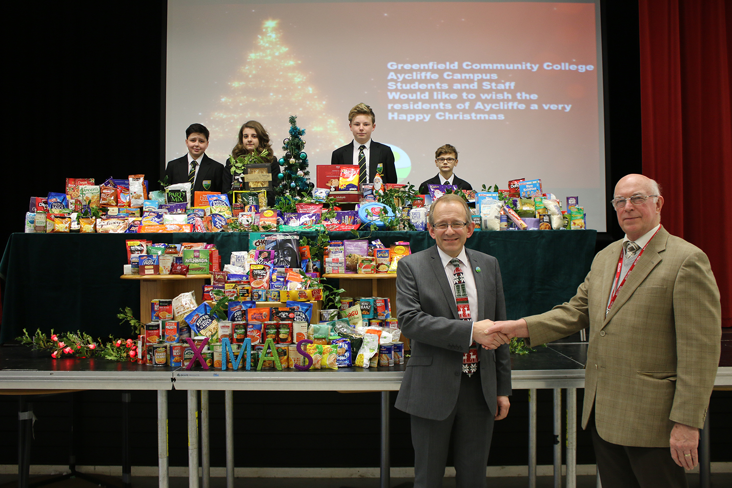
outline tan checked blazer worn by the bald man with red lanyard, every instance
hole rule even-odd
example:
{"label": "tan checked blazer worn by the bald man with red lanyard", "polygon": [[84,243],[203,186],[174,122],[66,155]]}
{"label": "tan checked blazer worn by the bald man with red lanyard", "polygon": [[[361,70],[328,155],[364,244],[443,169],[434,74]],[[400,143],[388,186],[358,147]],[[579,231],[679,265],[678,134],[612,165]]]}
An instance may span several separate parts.
{"label": "tan checked blazer worn by the bald man with red lanyard", "polygon": [[605,316],[621,249],[616,241],[597,253],[568,303],[526,318],[531,345],[589,323],[582,427],[594,402],[603,439],[668,447],[675,422],[703,427],[720,359],[720,292],[706,254],[660,228]]}

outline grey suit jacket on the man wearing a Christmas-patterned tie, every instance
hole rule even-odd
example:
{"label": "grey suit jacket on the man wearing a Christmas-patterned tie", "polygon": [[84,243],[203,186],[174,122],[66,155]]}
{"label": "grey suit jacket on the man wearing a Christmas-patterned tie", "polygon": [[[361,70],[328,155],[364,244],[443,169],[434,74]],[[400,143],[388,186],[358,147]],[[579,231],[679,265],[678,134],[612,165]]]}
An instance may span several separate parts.
{"label": "grey suit jacket on the man wearing a Christmas-patterned tie", "polygon": [[[467,248],[466,255],[477,288],[477,320],[505,320],[498,260]],[[452,283],[437,246],[400,260],[396,287],[399,325],[411,340],[411,358],[395,406],[411,415],[444,420],[458,401],[463,353],[470,347],[473,323],[458,318]],[[497,350],[478,351],[483,395],[495,414],[496,395],[511,394],[509,349],[502,345]]]}

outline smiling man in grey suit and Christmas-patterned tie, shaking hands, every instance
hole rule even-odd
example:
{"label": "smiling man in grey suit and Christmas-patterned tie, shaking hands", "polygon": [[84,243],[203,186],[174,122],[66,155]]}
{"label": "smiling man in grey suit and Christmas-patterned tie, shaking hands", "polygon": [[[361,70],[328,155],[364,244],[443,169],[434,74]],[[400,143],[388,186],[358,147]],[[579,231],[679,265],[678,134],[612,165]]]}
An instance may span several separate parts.
{"label": "smiling man in grey suit and Christmas-patterned tie, shaking hands", "polygon": [[458,195],[433,203],[429,230],[437,245],[397,266],[411,358],[395,406],[411,415],[414,487],[442,486],[451,437],[457,486],[485,487],[493,421],[507,416],[511,394],[508,345],[486,333],[506,317],[501,271],[493,256],[465,248],[474,224]]}

